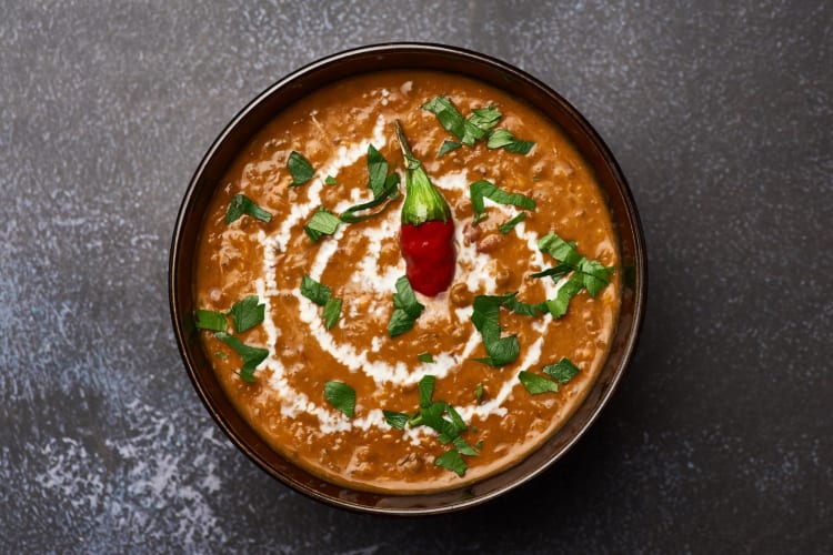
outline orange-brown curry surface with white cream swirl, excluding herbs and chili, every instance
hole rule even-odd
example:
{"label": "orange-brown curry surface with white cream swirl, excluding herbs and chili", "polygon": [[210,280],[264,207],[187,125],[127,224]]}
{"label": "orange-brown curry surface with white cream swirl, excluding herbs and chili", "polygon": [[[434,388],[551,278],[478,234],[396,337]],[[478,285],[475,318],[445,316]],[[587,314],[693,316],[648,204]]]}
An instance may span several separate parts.
{"label": "orange-brown curry surface with white cream swirl, excluding herbs and chili", "polygon": [[[464,117],[494,104],[503,114],[498,128],[534,141],[534,148],[525,155],[489,150],[483,139],[438,159],[443,141],[454,138],[421,108],[436,95],[448,97]],[[393,311],[392,284],[404,275],[398,240],[404,185],[382,214],[342,224],[333,236],[313,243],[303,226],[319,205],[339,213],[372,199],[365,186],[369,143],[392,171],[403,173],[394,119],[401,120],[414,154],[452,209],[458,265],[449,291],[433,299],[418,294],[425,311],[413,330],[391,339],[387,326]],[[301,186],[290,186],[287,161],[293,150],[317,170]],[[328,174],[337,184],[323,183]],[[533,198],[536,209],[503,234],[498,226],[521,210],[486,201],[488,218],[474,224],[468,186],[481,179]],[[224,223],[238,193],[270,212],[272,220],[264,223],[244,215]],[[610,285],[593,299],[586,291],[579,293],[559,320],[501,310],[503,335],[518,334],[521,354],[502,367],[476,362],[485,351],[470,320],[473,297],[518,291],[518,299],[526,303],[546,300],[554,283],[530,274],[556,265],[535,248],[549,232],[575,241],[588,259],[613,266]],[[592,386],[620,309],[618,240],[603,194],[574,147],[552,122],[510,94],[439,72],[351,78],[267,123],[212,199],[195,264],[197,306],[225,312],[251,294],[267,304],[267,322],[237,334],[245,344],[270,351],[253,384],[237,374],[241,359],[234,351],[211,332],[201,332],[204,351],[241,414],[274,450],[309,472],[367,491],[460,487],[534,451],[564,424]],[[341,320],[329,331],[321,309],[300,295],[305,274],[343,301]],[[425,352],[434,363],[419,360]],[[541,374],[544,365],[564,356],[580,372],[558,393],[533,396],[518,380],[520,371]],[[463,437],[480,445],[479,456],[463,457],[468,470],[462,477],[434,464],[450,447],[435,432],[425,426],[395,430],[382,417],[382,410],[416,411],[416,383],[425,374],[436,376],[433,398],[461,412],[470,426]],[[328,381],[355,390],[353,418],[327,403]],[[480,403],[478,384],[483,389]]]}

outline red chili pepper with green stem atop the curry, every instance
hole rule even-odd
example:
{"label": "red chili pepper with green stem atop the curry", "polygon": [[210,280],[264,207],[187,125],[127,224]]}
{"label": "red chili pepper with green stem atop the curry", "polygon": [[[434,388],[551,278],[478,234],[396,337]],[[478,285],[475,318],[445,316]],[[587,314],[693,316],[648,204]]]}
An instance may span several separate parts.
{"label": "red chili pepper with green stem atop the curry", "polygon": [[454,221],[451,209],[411,152],[402,125],[397,137],[405,159],[405,201],[402,204],[400,248],[411,287],[435,296],[454,279]]}

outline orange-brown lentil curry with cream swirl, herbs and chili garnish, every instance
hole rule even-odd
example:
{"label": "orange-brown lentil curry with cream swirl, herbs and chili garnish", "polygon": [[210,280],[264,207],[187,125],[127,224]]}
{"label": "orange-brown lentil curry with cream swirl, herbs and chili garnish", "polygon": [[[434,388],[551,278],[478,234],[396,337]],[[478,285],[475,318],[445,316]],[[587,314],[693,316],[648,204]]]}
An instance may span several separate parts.
{"label": "orange-brown lentil curry with cream swirl, herbs and chili garnish", "polygon": [[550,120],[468,78],[385,71],[310,94],[239,154],[203,222],[195,321],[283,456],[428,493],[566,422],[608,355],[620,269],[603,193]]}

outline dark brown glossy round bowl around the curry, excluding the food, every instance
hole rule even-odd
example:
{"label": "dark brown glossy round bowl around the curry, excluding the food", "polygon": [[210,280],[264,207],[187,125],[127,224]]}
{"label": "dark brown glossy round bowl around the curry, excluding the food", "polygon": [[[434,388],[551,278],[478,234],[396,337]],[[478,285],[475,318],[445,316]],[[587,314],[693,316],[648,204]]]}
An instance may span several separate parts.
{"label": "dark brown glossy round bowl around the curry, excluding the food", "polygon": [[[619,232],[622,309],[606,363],[583,404],[536,452],[515,466],[464,488],[429,495],[389,495],[348,490],[321,481],[273,451],[235,411],[214,376],[194,329],[193,256],[214,189],[241,149],[275,114],[323,85],[358,73],[431,69],[478,79],[525,100],[570,137],[594,169]],[[170,254],[170,305],[182,360],[197,393],[231,441],[265,472],[328,504],[367,513],[424,515],[461,509],[494,498],[538,476],[586,432],[613,394],[633,355],[645,307],[646,260],[642,229],[628,183],[608,147],[588,121],[546,84],[493,58],[436,44],[379,44],[330,56],[267,89],[220,133],[185,191]]]}

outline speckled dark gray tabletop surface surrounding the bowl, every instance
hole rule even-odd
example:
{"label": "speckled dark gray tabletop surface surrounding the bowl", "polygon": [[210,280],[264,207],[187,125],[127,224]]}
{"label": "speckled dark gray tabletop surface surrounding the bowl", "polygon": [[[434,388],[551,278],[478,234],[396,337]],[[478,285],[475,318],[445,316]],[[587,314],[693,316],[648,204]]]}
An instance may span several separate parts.
{"label": "speckled dark gray tabletop surface surrounding the bowl", "polygon": [[[833,4],[0,0],[0,552],[833,552]],[[199,402],[167,304],[191,173],[267,85],[389,40],[513,62],[628,175],[641,346],[546,475],[355,515]]]}

